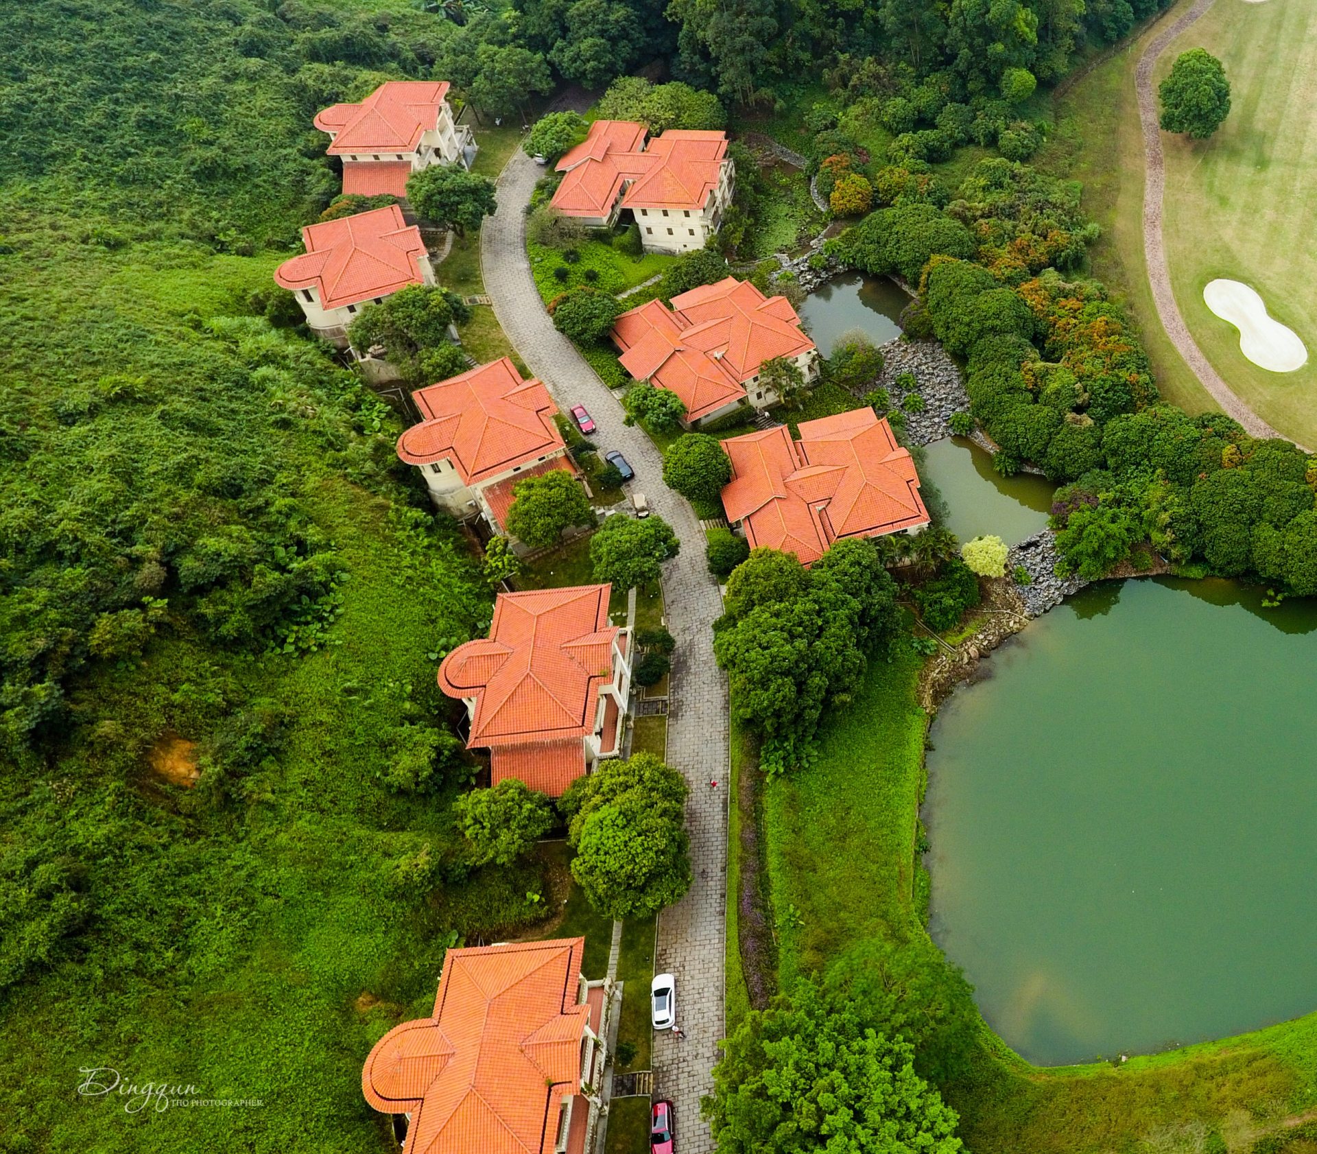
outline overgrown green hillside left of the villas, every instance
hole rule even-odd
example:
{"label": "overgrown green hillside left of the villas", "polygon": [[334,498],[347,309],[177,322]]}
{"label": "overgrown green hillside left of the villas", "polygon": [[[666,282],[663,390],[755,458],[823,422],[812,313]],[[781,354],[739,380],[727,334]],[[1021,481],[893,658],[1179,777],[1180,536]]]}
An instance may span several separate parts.
{"label": "overgrown green hillside left of the villas", "polygon": [[446,28],[271,8],[0,16],[0,1150],[387,1141],[371,1042],[541,916],[449,809],[489,589],[270,279],[338,188],[312,113]]}

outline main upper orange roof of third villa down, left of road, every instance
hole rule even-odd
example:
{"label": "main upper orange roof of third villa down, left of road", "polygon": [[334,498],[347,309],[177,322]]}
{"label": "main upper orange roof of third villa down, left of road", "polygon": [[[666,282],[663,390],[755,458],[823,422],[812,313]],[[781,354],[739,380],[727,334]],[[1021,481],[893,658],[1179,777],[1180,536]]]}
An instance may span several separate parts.
{"label": "main upper orange roof of third villa down, left of road", "polygon": [[566,448],[549,390],[523,381],[507,357],[417,389],[412,400],[424,419],[398,439],[398,456],[408,465],[449,458],[466,485]]}

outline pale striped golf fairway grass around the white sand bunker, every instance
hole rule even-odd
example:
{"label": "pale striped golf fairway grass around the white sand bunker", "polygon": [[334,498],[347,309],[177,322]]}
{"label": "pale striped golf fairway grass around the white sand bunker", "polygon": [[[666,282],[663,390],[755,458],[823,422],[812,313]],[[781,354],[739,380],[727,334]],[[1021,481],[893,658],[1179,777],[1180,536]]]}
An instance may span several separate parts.
{"label": "pale striped golf fairway grass around the white sand bunker", "polygon": [[[1305,0],[1217,4],[1163,54],[1156,79],[1192,47],[1222,61],[1233,107],[1210,140],[1163,136],[1176,300],[1208,360],[1245,402],[1281,432],[1313,445],[1317,7]],[[1202,300],[1202,287],[1217,277],[1251,285],[1271,315],[1300,335],[1310,354],[1303,369],[1268,373],[1239,352],[1235,328]]]}

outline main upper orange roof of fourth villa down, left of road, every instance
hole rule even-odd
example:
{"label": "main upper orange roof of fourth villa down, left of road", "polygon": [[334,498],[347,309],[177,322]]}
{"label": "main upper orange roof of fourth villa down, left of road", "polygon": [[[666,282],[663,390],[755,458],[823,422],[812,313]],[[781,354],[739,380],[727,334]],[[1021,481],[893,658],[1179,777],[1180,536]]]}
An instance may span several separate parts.
{"label": "main upper orange roof of fourth villa down, left of road", "polygon": [[487,640],[439,667],[449,697],[475,698],[468,746],[525,746],[594,732],[599,689],[612,677],[608,585],[500,593]]}

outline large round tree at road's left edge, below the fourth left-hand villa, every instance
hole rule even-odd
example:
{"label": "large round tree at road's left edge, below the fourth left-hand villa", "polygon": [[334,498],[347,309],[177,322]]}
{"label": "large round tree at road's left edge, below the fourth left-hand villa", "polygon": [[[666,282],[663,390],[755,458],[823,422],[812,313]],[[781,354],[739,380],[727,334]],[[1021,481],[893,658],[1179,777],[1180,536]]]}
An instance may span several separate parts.
{"label": "large round tree at road's left edge, below the fourth left-hand villa", "polygon": [[558,801],[576,846],[572,876],[615,920],[652,917],[690,889],[686,780],[652,754],[603,761]]}

